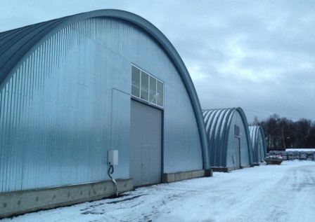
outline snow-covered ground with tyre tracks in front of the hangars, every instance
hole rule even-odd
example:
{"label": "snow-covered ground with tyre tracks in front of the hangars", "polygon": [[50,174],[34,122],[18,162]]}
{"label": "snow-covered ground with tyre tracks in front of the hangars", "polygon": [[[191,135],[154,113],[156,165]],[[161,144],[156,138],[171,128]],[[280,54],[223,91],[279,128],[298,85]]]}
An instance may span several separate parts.
{"label": "snow-covered ground with tyre tracks in front of the hangars", "polygon": [[214,177],[138,188],[121,197],[61,207],[18,221],[314,221],[315,162],[285,161]]}

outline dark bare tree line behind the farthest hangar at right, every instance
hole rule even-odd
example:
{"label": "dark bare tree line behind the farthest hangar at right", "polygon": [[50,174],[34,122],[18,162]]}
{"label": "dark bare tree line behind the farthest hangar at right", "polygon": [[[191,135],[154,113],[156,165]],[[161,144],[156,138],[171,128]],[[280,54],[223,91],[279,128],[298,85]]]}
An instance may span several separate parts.
{"label": "dark bare tree line behind the farthest hangar at right", "polygon": [[262,121],[255,117],[252,125],[260,125],[264,130],[267,152],[315,148],[315,121],[304,118],[293,121],[274,114]]}

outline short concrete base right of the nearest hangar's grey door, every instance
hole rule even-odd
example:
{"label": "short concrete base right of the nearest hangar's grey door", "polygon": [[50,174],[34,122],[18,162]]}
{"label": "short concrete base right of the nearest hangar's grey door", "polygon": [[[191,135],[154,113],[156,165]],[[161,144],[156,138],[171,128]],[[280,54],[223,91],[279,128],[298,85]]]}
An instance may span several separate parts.
{"label": "short concrete base right of the nearest hangar's grey door", "polygon": [[211,169],[198,169],[186,172],[176,172],[163,174],[162,182],[163,183],[172,183],[175,181],[183,181],[184,179],[193,179],[203,176],[212,176]]}

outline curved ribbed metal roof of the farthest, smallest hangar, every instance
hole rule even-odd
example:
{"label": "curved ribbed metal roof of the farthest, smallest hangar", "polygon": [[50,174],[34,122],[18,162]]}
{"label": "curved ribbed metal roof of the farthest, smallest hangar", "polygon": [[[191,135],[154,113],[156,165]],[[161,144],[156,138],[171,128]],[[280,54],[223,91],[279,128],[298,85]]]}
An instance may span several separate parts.
{"label": "curved ribbed metal roof of the farthest, smallest hangar", "polygon": [[266,157],[266,140],[264,138],[264,130],[259,125],[252,125],[249,127],[250,129],[250,139],[252,140],[252,154],[253,154],[253,160],[254,162],[260,162],[261,160],[258,160],[258,144],[259,144],[259,134],[261,134],[262,137],[262,148],[264,150],[264,156],[262,156],[262,160]]}

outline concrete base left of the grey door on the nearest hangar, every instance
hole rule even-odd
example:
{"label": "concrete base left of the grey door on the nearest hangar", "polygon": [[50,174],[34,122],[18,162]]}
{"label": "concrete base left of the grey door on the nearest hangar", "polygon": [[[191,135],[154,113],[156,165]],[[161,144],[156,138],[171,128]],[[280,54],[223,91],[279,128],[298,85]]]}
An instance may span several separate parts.
{"label": "concrete base left of the grey door on the nearest hangar", "polygon": [[[133,179],[117,180],[119,193],[134,188]],[[113,181],[84,183],[39,190],[0,193],[0,218],[51,209],[86,201],[101,200],[116,194]]]}

